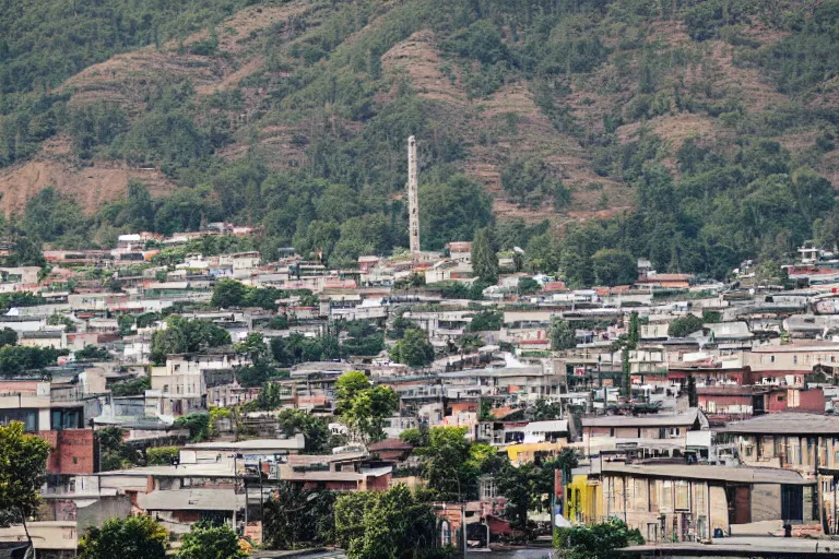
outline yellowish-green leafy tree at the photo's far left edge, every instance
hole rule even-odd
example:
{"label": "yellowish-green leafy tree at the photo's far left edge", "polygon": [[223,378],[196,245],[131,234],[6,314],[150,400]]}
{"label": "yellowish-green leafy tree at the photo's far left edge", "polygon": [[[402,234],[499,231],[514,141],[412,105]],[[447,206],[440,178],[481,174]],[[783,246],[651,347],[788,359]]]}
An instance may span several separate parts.
{"label": "yellowish-green leafy tree at the photo's far left edge", "polygon": [[0,425],[0,526],[23,523],[29,545],[26,520],[38,510],[49,452],[49,443],[25,435],[22,423]]}

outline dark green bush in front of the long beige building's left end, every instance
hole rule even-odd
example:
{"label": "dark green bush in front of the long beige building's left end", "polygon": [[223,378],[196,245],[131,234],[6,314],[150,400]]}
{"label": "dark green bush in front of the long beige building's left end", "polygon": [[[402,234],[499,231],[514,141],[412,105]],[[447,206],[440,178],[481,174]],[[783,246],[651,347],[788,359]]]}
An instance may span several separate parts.
{"label": "dark green bush in front of the long beige building's left end", "polygon": [[554,535],[554,548],[565,559],[608,559],[615,549],[642,545],[637,528],[630,530],[622,520],[610,519],[592,525],[563,528]]}

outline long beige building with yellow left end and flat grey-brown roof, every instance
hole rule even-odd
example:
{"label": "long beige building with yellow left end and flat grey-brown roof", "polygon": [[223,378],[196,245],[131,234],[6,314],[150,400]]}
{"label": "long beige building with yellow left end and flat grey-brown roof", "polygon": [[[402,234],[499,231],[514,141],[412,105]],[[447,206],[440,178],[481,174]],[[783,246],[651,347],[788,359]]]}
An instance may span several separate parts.
{"label": "long beige building with yellow left end and flat grey-brown roof", "polygon": [[618,518],[648,542],[709,539],[732,524],[781,520],[813,524],[815,483],[785,469],[705,465],[603,464],[572,477],[565,518],[598,523]]}

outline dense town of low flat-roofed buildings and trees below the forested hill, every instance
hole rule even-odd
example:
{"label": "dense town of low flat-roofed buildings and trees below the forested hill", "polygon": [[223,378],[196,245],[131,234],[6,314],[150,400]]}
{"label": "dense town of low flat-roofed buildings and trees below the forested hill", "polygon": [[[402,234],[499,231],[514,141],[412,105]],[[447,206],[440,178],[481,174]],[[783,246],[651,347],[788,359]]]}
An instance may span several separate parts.
{"label": "dense town of low flat-roofed buildings and trees below the forested hill", "polygon": [[229,557],[550,552],[603,530],[636,557],[832,547],[832,252],[803,246],[785,286],[639,259],[570,289],[481,236],[342,270],[199,251],[256,234],[0,269],[0,457],[33,487],[3,501],[8,557],[98,557],[131,530],[193,557],[212,526]]}

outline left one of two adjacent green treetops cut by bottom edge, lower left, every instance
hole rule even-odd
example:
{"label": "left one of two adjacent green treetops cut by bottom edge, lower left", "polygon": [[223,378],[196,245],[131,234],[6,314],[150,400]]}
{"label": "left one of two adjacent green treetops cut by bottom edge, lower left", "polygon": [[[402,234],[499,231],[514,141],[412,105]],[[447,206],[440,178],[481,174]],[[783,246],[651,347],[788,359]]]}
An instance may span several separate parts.
{"label": "left one of two adjacent green treetops cut by bottom edge, lower left", "polygon": [[111,519],[79,538],[80,559],[165,559],[166,530],[151,516]]}

